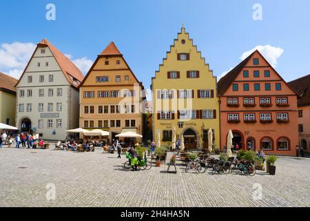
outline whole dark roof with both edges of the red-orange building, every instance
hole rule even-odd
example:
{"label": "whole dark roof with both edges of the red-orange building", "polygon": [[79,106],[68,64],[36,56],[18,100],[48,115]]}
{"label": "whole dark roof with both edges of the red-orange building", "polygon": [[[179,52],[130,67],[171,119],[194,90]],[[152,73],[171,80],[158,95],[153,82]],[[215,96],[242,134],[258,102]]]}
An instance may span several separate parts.
{"label": "whole dark roof with both edges of the red-orange building", "polygon": [[[279,73],[276,71],[276,69],[274,69],[273,66],[271,66],[269,61],[267,61],[267,59],[265,59],[265,57],[262,56],[262,54],[258,50],[255,50],[253,53],[251,53],[251,55],[249,55],[246,59],[241,61],[241,63],[238,64],[238,66],[236,66],[236,68],[229,71],[229,73],[227,73],[224,77],[222,77],[220,79],[220,81],[218,81],[218,95],[223,95],[226,92],[226,90],[234,82],[234,80],[238,77],[238,75],[241,73],[242,69],[245,68],[245,65],[247,64],[247,62],[251,59],[251,57],[256,52],[258,53],[258,55],[260,55],[260,57],[262,57],[262,59],[264,59],[266,61],[267,65],[273,69],[273,71],[276,73],[276,75],[278,75],[278,77],[280,77],[280,79],[293,91],[293,93],[298,95],[296,90],[294,90],[289,84],[287,84],[287,81],[285,81],[285,79],[283,79],[281,77],[281,75],[279,75]],[[298,97],[299,97],[299,95],[298,95]]]}

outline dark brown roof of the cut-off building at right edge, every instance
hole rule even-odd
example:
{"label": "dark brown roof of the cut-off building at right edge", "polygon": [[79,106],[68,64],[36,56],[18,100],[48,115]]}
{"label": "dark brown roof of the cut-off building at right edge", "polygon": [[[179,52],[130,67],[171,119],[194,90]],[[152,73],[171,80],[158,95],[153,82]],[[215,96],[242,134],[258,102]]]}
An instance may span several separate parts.
{"label": "dark brown roof of the cut-off building at right edge", "polygon": [[310,105],[310,75],[290,81],[288,84],[300,95],[298,106]]}

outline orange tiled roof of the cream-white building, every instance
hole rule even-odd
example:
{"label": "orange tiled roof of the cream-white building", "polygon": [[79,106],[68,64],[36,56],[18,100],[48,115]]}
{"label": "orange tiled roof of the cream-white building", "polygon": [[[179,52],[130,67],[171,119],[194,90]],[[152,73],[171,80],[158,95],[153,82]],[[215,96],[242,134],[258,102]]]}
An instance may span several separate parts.
{"label": "orange tiled roof of the cream-white building", "polygon": [[[50,48],[50,51],[52,52],[52,55],[54,55],[56,62],[59,64],[59,67],[63,71],[65,78],[68,80],[68,82],[72,86],[77,88],[79,86],[79,83],[76,83],[76,81],[74,81],[73,78],[78,80],[81,83],[81,81],[83,81],[83,78],[84,78],[83,74],[81,73],[81,70],[79,70],[79,68],[77,68],[75,66],[75,64],[70,59],[68,59],[68,57],[63,55],[63,53],[60,50],[58,50],[58,48],[53,46],[47,39],[43,39],[39,44],[37,44],[37,48],[38,47]],[[36,48],[36,50],[37,50],[37,48]],[[34,50],[34,52],[36,50]],[[33,57],[33,55],[32,55],[32,57]],[[31,61],[31,59],[30,59],[30,61]],[[30,64],[30,61],[29,61],[28,65],[26,66],[25,70],[27,70],[27,68]],[[23,74],[25,73],[25,70],[23,71]],[[23,75],[21,75],[21,77],[23,77]],[[20,80],[21,80],[21,78],[19,79],[19,81]]]}

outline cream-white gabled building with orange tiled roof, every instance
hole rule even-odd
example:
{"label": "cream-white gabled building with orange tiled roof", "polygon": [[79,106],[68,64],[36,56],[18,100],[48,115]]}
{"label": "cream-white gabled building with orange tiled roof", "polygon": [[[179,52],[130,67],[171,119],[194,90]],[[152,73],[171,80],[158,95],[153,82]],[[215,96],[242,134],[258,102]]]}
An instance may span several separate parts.
{"label": "cream-white gabled building with orange tiled roof", "polygon": [[79,126],[79,90],[83,74],[46,39],[34,50],[17,83],[16,125],[45,140],[65,140]]}

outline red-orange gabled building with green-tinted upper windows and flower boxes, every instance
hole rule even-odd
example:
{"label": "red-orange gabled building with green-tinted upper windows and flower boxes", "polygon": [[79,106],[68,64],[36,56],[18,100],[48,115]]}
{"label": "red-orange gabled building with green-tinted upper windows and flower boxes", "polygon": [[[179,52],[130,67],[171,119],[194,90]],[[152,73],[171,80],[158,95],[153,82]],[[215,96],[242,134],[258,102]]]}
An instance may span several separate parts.
{"label": "red-orange gabled building with green-tinted upper windows and flower boxes", "polygon": [[218,82],[221,146],[296,155],[297,93],[256,50]]}

